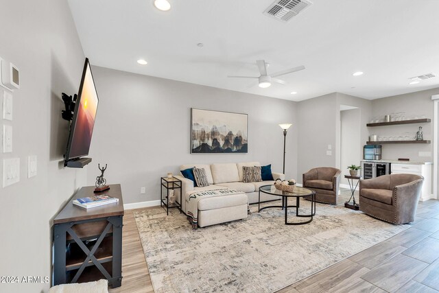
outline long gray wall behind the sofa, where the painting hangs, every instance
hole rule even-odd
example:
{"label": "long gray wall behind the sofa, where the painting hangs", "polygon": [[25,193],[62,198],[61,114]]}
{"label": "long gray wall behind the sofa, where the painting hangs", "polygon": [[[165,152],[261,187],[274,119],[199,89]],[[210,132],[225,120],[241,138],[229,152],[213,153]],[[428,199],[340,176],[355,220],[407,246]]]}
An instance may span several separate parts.
{"label": "long gray wall behind the sofa, where the painting hangs", "polygon": [[[287,134],[285,172],[296,178],[296,103],[162,78],[93,67],[99,108],[88,185],[108,164],[108,183],[121,183],[125,203],[158,200],[159,182],[185,163],[260,161],[282,171],[283,130]],[[248,114],[248,154],[190,154],[190,109]],[[140,194],[146,187],[146,194]]]}

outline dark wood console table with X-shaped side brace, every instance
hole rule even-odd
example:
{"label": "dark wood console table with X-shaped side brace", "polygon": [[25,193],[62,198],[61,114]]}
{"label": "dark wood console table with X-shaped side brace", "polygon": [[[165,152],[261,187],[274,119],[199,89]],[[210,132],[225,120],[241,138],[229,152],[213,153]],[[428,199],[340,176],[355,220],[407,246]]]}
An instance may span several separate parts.
{"label": "dark wood console table with X-shaped side brace", "polygon": [[83,209],[72,204],[76,198],[94,196],[94,186],[82,187],[56,215],[53,226],[52,285],[107,279],[112,288],[122,281],[123,200],[121,185],[99,194],[119,202]]}

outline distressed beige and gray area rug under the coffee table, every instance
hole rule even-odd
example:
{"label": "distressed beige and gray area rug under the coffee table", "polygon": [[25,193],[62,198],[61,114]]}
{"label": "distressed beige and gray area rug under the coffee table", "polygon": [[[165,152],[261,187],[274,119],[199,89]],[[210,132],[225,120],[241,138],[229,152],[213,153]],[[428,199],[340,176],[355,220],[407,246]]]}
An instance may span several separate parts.
{"label": "distressed beige and gray area rug under the coffee table", "polygon": [[154,291],[274,292],[409,228],[328,204],[302,226],[285,225],[281,209],[250,210],[246,220],[196,230],[175,209],[134,212]]}

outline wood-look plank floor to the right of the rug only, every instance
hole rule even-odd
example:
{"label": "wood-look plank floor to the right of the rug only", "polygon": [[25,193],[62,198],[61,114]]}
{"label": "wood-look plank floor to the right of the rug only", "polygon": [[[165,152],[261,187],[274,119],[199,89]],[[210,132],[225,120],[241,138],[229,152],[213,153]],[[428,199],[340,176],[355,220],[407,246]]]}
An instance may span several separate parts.
{"label": "wood-look plank floor to the right of the rug only", "polygon": [[438,293],[439,200],[420,202],[402,233],[278,291],[298,292]]}

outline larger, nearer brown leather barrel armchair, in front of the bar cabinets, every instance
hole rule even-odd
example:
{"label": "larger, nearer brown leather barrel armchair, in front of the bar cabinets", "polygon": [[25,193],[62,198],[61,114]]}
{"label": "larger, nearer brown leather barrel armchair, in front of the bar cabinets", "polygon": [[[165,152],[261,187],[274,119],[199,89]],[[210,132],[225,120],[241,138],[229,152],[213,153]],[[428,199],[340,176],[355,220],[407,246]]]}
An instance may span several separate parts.
{"label": "larger, nearer brown leather barrel armchair, in front of the bar cabinets", "polygon": [[393,224],[414,221],[423,176],[414,174],[390,174],[360,180],[359,209]]}

